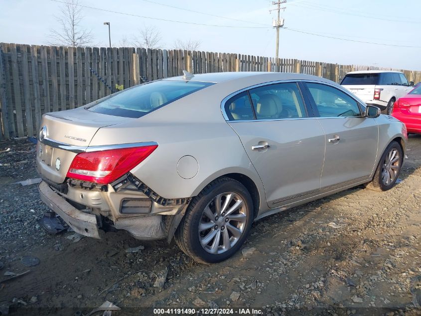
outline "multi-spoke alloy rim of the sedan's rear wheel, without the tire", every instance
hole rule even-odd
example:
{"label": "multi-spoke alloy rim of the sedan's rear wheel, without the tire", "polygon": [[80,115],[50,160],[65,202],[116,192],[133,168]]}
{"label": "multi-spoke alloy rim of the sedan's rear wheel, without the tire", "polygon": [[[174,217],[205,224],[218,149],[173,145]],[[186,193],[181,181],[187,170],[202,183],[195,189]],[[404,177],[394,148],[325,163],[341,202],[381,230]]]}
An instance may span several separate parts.
{"label": "multi-spoke alloy rim of the sedan's rear wheel, without the tire", "polygon": [[205,207],[199,222],[199,240],[210,254],[230,250],[246,228],[247,208],[243,198],[234,192],[215,196]]}

